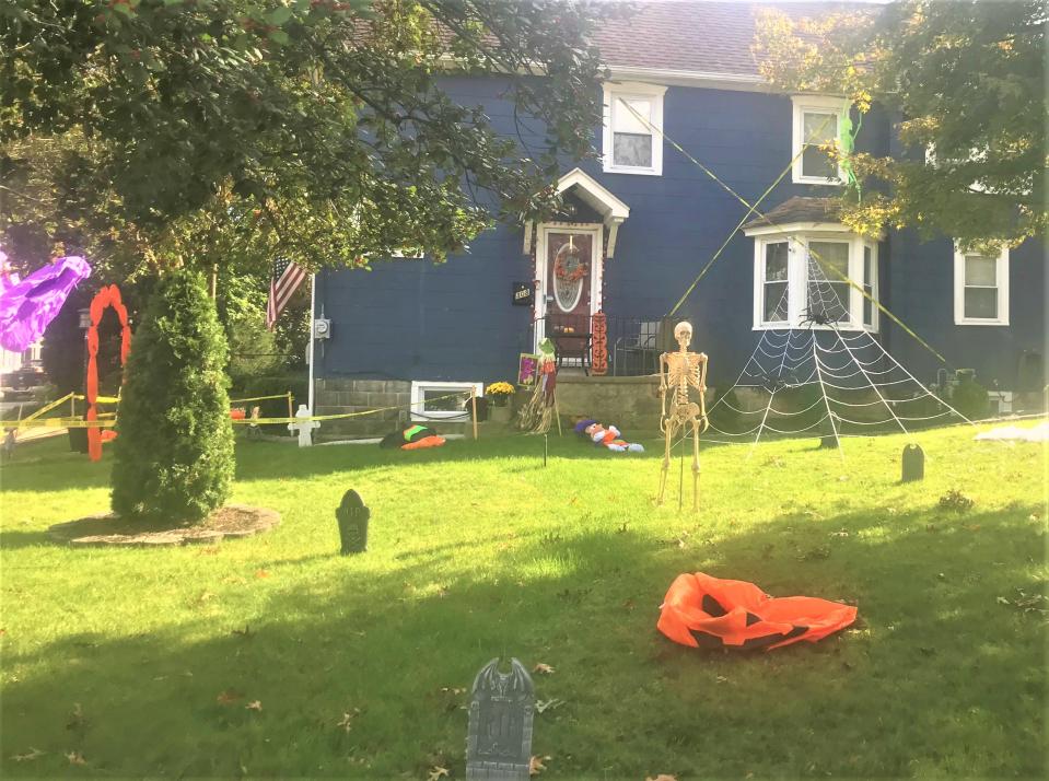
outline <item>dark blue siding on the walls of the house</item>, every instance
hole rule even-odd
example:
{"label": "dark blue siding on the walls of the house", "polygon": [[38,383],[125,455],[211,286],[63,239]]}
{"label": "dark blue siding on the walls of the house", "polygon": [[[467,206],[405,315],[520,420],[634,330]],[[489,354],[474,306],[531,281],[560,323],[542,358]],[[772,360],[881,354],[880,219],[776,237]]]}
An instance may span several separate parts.
{"label": "dark blue siding on the walls of the house", "polygon": [[[500,79],[448,79],[453,98],[480,103],[496,127],[516,136],[513,104]],[[890,118],[864,118],[861,150],[889,151]],[[789,97],[672,86],[664,128],[743,198],[754,201],[791,160]],[[527,120],[523,140],[538,142],[541,126]],[[529,132],[534,130],[535,132]],[[595,128],[596,144],[601,129]],[[563,171],[575,167],[564,161]],[[598,161],[580,167],[630,207],[615,258],[605,267],[604,310],[609,316],[665,315],[716,252],[746,208],[664,144],[663,175],[605,174]],[[791,184],[790,173],[762,202],[770,210],[792,195],[832,195],[830,187]],[[333,337],[318,354],[319,377],[388,377],[491,382],[512,377],[517,353],[531,348],[528,307],[511,306],[511,283],[533,277],[522,254],[521,225],[500,225],[468,253],[434,266],[422,260],[378,264],[371,272],[326,271],[317,277],[317,307],[333,319]],[[696,327],[693,346],[711,357],[711,382],[731,382],[754,349],[753,240],[737,233],[678,316]],[[919,244],[910,234],[883,243],[883,301],[955,366],[976,368],[981,380],[1012,383],[1018,352],[1041,349],[1045,270],[1041,249],[1014,250],[1012,326],[955,326],[953,255],[946,241]],[[887,326],[890,349],[931,380],[935,366],[920,346]],[[971,348],[970,348],[971,346]],[[916,349],[917,348],[917,349]]]}

